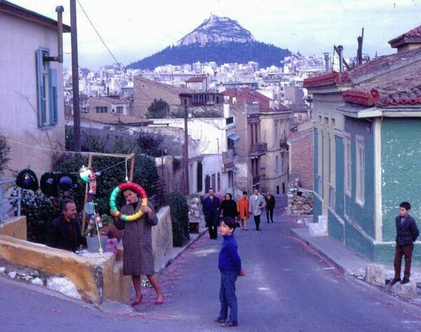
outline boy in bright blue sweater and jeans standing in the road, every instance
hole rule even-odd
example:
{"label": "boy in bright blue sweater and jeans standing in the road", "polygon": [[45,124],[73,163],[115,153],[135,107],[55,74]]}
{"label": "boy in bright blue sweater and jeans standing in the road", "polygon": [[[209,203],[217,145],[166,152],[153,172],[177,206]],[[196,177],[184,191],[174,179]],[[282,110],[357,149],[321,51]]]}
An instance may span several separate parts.
{"label": "boy in bright blue sweater and jeans standing in the road", "polygon": [[[222,218],[220,235],[224,238],[219,254],[218,268],[221,272],[220,286],[220,314],[215,321],[222,327],[237,326],[237,301],[235,282],[238,276],[243,277],[246,272],[241,270],[241,258],[237,252],[238,246],[234,237],[235,221],[229,216]],[[228,317],[229,308],[229,317]]]}

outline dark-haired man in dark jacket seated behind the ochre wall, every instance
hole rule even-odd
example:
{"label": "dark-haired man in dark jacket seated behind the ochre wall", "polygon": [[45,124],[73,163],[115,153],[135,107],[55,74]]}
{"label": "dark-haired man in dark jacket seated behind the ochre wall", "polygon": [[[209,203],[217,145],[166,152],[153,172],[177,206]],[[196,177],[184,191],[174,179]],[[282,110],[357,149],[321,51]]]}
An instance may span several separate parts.
{"label": "dark-haired man in dark jacket seated behind the ochre wall", "polygon": [[86,240],[76,219],[76,204],[73,200],[62,202],[62,214],[50,225],[47,244],[50,247],[76,251]]}

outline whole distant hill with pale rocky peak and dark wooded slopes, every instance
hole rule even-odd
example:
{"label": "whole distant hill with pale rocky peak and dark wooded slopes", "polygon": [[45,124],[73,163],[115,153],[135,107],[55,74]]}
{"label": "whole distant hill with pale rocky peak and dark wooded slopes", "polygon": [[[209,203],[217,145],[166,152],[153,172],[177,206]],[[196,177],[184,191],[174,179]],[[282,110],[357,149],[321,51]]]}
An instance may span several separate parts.
{"label": "whole distant hill with pale rocky peak and dark wooded slopes", "polygon": [[168,46],[159,53],[133,62],[128,68],[152,70],[166,64],[212,61],[218,65],[253,61],[265,68],[279,65],[288,55],[288,49],[256,41],[253,34],[235,20],[210,15],[210,18],[180,39],[175,46]]}

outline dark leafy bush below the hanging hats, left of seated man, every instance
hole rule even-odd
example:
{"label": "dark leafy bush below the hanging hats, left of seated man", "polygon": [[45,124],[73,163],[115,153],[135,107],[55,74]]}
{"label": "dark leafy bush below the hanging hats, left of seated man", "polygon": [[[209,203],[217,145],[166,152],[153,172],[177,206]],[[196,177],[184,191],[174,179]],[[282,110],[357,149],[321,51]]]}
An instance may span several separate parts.
{"label": "dark leafy bush below the hanging hats, left of seated man", "polygon": [[[18,196],[15,190],[12,196]],[[12,203],[17,208],[18,202]],[[48,226],[60,215],[60,207],[41,191],[27,191],[22,189],[20,214],[27,217],[27,238],[32,242],[46,243]]]}

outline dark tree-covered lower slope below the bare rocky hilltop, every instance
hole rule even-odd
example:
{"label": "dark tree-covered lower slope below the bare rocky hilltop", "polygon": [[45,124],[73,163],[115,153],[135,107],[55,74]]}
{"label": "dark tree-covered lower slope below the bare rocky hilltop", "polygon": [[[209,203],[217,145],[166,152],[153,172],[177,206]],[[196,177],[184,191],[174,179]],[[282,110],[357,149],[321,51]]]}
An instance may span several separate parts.
{"label": "dark tree-covered lower slope below the bare rocky hilltop", "polygon": [[261,68],[266,68],[272,65],[279,66],[283,58],[290,54],[288,49],[258,41],[207,43],[204,46],[194,43],[187,46],[168,46],[159,53],[129,64],[128,68],[152,70],[165,64],[192,64],[198,61],[215,61],[218,65],[234,62],[246,64],[255,61]]}

